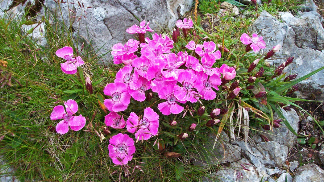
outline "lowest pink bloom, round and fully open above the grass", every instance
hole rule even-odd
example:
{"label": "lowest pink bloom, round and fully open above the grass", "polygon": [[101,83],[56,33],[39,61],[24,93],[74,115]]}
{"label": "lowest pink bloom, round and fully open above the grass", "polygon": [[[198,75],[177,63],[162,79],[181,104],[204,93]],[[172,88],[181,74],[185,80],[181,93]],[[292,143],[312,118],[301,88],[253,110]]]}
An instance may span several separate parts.
{"label": "lowest pink bloom, round and fully open above the grass", "polygon": [[118,133],[109,139],[109,157],[116,165],[125,165],[135,153],[134,140],[127,134]]}

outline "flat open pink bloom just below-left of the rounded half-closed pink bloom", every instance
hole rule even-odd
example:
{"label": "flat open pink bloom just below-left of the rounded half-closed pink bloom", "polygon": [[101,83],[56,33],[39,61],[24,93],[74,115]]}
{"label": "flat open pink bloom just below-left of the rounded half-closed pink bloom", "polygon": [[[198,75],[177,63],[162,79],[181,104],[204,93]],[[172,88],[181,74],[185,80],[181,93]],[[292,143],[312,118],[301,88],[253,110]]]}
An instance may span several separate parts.
{"label": "flat open pink bloom just below-left of the rounded half-closed pink bloom", "polygon": [[202,98],[205,100],[213,100],[216,97],[216,92],[213,88],[219,90],[218,86],[222,84],[219,75],[214,74],[208,78],[207,74],[200,72],[197,74],[197,77],[196,88],[200,95],[203,96]]}

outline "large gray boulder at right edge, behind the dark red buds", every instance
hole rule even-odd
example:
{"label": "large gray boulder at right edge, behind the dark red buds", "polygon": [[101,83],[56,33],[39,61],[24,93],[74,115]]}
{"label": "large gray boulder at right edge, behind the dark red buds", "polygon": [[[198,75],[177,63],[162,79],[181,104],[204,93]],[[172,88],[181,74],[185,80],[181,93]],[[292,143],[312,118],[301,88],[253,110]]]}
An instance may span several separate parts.
{"label": "large gray boulder at right edge, behind the dark red buds", "polygon": [[[266,11],[253,23],[252,30],[263,37],[267,48],[261,51],[266,53],[273,46],[282,45],[276,55],[281,57],[294,56],[294,63],[285,68],[288,74],[297,73],[297,78],[304,76],[324,65],[324,29],[321,19],[315,13],[303,14],[300,18],[282,13],[286,23],[280,23]],[[288,23],[288,24],[287,24]],[[260,31],[262,29],[262,31]],[[273,63],[279,64],[285,59],[277,59]],[[317,99],[324,100],[324,72],[321,71],[309,79],[301,82],[303,97],[315,95]]]}

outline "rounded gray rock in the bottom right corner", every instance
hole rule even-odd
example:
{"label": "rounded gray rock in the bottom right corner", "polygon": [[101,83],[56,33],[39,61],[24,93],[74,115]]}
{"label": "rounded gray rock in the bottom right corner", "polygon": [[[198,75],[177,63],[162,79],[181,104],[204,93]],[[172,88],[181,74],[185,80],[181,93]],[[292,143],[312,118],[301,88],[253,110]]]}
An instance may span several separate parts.
{"label": "rounded gray rock in the bottom right corner", "polygon": [[324,171],[316,164],[307,164],[298,168],[293,182],[322,182]]}

